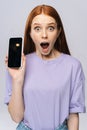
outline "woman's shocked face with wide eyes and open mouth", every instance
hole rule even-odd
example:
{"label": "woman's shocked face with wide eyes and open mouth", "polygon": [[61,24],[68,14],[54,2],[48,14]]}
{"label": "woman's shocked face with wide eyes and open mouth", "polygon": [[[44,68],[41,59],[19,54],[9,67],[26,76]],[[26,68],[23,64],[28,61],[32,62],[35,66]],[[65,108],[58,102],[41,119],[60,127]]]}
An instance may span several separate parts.
{"label": "woman's shocked face with wide eyes and open mouth", "polygon": [[42,55],[49,55],[54,49],[60,30],[53,17],[40,14],[34,17],[31,24],[30,36],[35,44],[36,52]]}

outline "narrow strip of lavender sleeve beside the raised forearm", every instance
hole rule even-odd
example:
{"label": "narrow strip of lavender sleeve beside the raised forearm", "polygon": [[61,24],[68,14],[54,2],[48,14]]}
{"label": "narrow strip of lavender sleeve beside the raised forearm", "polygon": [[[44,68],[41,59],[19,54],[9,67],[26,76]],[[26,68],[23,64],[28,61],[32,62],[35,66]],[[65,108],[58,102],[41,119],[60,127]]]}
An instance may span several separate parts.
{"label": "narrow strip of lavender sleeve beside the raised forearm", "polygon": [[4,98],[5,104],[9,103],[11,93],[12,93],[12,79],[8,71],[6,71],[6,88],[5,88],[5,98]]}

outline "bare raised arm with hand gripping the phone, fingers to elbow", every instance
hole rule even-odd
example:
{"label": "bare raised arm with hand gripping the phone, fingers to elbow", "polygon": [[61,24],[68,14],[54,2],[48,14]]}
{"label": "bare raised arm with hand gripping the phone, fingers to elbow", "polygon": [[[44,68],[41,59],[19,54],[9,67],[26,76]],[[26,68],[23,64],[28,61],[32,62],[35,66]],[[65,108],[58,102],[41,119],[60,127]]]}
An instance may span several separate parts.
{"label": "bare raised arm with hand gripping the phone, fingers to elbow", "polygon": [[[6,59],[6,63],[8,59]],[[22,67],[19,69],[8,68],[12,77],[12,94],[8,104],[8,111],[15,122],[20,122],[24,116],[23,82],[25,74],[25,57],[22,56]]]}

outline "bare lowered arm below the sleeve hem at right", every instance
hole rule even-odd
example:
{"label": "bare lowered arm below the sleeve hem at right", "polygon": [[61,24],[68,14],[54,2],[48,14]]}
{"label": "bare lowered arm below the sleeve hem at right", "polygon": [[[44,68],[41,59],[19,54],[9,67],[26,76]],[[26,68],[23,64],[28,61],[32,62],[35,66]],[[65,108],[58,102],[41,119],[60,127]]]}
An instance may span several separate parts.
{"label": "bare lowered arm below the sleeve hem at right", "polygon": [[79,130],[79,114],[71,113],[67,123],[68,130]]}

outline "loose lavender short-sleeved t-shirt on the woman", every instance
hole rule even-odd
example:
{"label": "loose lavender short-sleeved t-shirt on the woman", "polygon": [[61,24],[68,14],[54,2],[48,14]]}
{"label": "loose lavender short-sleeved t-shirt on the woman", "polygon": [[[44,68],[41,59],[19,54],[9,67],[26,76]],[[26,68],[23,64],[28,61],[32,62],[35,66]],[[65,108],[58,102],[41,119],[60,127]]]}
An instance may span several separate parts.
{"label": "loose lavender short-sleeved t-shirt on the woman", "polygon": [[[84,73],[80,62],[61,54],[43,60],[36,53],[26,56],[23,87],[24,123],[33,130],[54,130],[69,113],[85,112]],[[5,103],[12,91],[7,73]]]}

